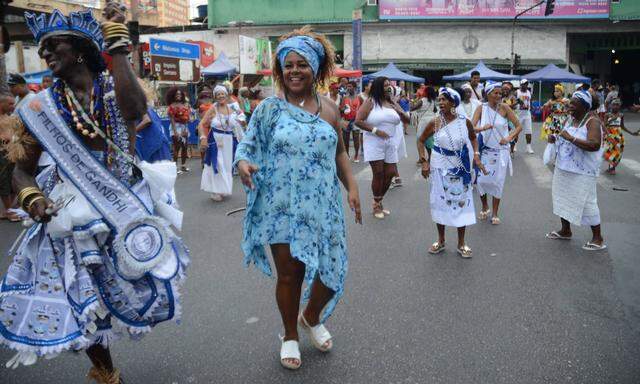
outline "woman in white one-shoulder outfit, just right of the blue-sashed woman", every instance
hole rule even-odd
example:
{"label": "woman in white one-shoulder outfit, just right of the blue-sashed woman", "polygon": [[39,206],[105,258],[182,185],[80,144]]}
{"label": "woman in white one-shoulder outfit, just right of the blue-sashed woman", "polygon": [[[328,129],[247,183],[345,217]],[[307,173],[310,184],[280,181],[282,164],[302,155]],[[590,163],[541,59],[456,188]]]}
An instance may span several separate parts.
{"label": "woman in white one-shoulder outfit, just right of the blue-sashed woman", "polygon": [[[488,174],[479,174],[476,179],[482,201],[479,218],[486,220],[489,217],[487,195],[491,195],[493,197],[491,224],[498,225],[500,224],[498,209],[507,171],[513,175],[509,143],[518,137],[522,127],[513,110],[502,102],[502,84],[487,81],[485,92],[488,101],[477,108],[473,115],[473,126],[478,134],[480,159],[488,171]],[[509,133],[509,122],[515,127],[511,133]]]}

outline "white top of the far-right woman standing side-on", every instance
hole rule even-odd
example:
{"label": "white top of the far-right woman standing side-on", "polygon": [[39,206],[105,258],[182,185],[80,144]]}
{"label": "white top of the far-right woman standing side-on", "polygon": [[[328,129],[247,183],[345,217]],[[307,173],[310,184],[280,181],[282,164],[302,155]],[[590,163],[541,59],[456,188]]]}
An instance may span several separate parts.
{"label": "white top of the far-right woman standing side-on", "polygon": [[[590,117],[585,123],[579,127],[572,125],[573,119],[567,120],[565,124],[565,131],[571,136],[578,138],[579,140],[587,139],[587,124],[591,119]],[[585,151],[582,148],[578,148],[575,144],[567,141],[561,137],[558,137],[558,155],[556,156],[556,167],[563,171],[578,173],[581,175],[596,177],[600,173],[600,164],[602,163],[602,155],[604,153],[604,147],[602,146],[602,130],[600,131],[600,149],[595,152]]]}

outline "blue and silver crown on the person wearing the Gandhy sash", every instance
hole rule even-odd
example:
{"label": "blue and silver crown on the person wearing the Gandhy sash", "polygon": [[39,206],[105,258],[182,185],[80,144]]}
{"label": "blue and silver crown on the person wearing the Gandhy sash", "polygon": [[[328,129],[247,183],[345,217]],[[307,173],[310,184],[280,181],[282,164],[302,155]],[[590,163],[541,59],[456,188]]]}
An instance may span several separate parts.
{"label": "blue and silver crown on the person wearing the Gandhy sash", "polygon": [[47,20],[47,14],[25,12],[27,27],[33,33],[36,42],[53,35],[74,35],[91,40],[99,51],[102,51],[104,39],[100,22],[93,17],[91,11],[71,12],[65,16],[54,9]]}

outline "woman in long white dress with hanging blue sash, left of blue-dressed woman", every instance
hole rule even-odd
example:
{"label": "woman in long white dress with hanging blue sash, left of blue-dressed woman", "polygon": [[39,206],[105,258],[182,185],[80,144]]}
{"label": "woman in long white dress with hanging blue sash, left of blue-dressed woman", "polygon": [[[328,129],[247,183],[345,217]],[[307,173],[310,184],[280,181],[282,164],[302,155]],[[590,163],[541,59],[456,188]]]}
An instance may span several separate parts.
{"label": "woman in long white dress with hanging blue sash, left of blue-dressed woman", "polygon": [[246,118],[228,104],[226,87],[218,85],[213,93],[216,102],[198,126],[200,147],[206,148],[200,189],[211,193],[213,201],[222,201],[233,191],[233,154]]}

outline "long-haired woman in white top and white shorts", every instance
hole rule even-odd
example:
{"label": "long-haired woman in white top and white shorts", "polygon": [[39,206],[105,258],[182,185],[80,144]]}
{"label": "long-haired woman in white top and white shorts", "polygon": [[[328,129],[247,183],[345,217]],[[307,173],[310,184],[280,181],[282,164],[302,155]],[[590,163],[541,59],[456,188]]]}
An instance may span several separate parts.
{"label": "long-haired woman in white top and white shorts", "polygon": [[364,161],[371,165],[373,180],[373,215],[384,219],[391,212],[382,206],[382,199],[397,173],[398,133],[401,122],[409,116],[391,100],[393,88],[386,77],[378,77],[371,85],[370,98],[358,110],[355,124],[364,131]]}

